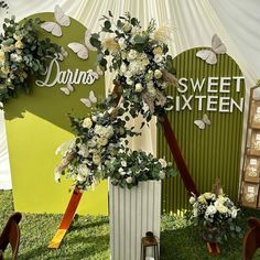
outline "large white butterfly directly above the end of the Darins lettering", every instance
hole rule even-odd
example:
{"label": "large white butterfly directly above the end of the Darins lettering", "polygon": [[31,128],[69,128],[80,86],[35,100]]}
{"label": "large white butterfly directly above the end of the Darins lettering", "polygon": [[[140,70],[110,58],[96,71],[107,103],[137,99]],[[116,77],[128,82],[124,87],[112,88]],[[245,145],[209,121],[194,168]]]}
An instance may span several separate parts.
{"label": "large white butterfly directly above the end of the Darins lettering", "polygon": [[90,31],[85,32],[85,45],[82,43],[69,43],[67,46],[77,54],[78,57],[82,59],[87,59],[88,58],[88,50],[89,51],[96,51],[97,48],[94,47],[89,40],[90,40],[91,33]]}

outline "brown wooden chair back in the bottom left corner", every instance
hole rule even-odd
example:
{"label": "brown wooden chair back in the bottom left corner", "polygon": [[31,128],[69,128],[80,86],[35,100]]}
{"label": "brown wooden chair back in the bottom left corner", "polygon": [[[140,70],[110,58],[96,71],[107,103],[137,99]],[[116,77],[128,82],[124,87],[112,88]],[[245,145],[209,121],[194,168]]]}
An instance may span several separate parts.
{"label": "brown wooden chair back in the bottom left corner", "polygon": [[21,213],[14,213],[8,220],[0,236],[0,260],[3,259],[3,252],[8,245],[12,248],[12,260],[18,259],[18,249],[20,245],[20,228],[19,223],[22,218]]}

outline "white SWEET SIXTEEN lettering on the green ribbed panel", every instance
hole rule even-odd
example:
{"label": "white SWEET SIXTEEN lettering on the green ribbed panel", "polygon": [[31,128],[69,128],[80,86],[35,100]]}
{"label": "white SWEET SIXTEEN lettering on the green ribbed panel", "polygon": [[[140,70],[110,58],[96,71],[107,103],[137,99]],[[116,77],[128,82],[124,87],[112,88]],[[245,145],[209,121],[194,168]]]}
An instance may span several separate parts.
{"label": "white SWEET SIXTEEN lettering on the green ribbed panel", "polygon": [[[243,97],[235,98],[235,96],[239,96],[243,80],[245,77],[242,76],[203,79],[182,77],[178,79],[178,95],[174,97],[174,110],[182,111],[196,108],[198,111],[232,112],[237,109],[242,112]],[[187,93],[192,94],[187,95]],[[232,97],[230,96],[231,93],[234,93]]]}

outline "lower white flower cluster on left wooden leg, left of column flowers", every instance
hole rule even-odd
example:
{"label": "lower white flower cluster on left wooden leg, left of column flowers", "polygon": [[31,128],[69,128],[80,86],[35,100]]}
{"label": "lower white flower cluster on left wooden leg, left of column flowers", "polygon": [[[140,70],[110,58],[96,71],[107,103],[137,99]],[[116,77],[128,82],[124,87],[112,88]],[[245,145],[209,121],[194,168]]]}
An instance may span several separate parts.
{"label": "lower white flower cluster on left wooden leg, left of column flowers", "polygon": [[118,112],[93,112],[84,119],[71,118],[77,137],[57,149],[63,160],[55,169],[56,181],[59,182],[61,174],[66,175],[83,192],[104,178],[106,165],[127,144],[124,138],[139,134],[126,128],[126,122],[117,117]]}

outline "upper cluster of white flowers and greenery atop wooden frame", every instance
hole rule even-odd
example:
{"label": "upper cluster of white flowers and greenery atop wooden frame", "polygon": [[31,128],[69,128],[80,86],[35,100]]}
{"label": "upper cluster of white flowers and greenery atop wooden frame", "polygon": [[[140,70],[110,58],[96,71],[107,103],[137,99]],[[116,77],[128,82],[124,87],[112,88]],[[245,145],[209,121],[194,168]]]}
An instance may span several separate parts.
{"label": "upper cluster of white flowers and greenery atop wooden frame", "polygon": [[[173,107],[173,98],[165,89],[177,84],[172,56],[167,53],[169,30],[151,20],[143,30],[130,13],[113,21],[112,13],[104,15],[101,31],[91,34],[90,43],[97,48],[98,64],[115,72],[113,84],[120,86],[122,107],[134,118],[140,112],[147,121],[163,116]],[[117,96],[109,95],[108,107]]]}

